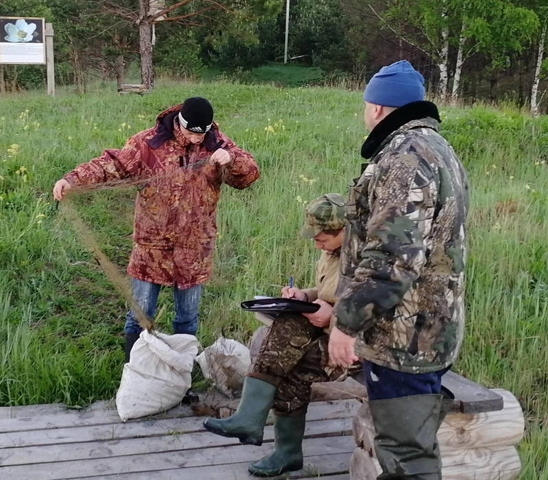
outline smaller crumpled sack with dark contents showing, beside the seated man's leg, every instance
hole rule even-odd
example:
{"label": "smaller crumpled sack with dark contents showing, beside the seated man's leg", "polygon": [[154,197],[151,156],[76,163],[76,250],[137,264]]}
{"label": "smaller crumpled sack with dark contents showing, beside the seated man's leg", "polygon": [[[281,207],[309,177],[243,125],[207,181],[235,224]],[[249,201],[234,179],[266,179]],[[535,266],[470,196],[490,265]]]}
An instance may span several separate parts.
{"label": "smaller crumpled sack with dark contents showing, beside the seated man's leg", "polygon": [[212,380],[229,397],[240,392],[251,365],[249,348],[239,341],[223,337],[206,347],[196,360],[203,376]]}

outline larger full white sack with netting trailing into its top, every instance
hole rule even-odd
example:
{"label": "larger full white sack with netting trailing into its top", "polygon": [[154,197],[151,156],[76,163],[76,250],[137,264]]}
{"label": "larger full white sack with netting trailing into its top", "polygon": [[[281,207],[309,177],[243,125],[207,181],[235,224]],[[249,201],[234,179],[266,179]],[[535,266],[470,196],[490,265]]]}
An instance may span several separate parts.
{"label": "larger full white sack with netting trailing into its top", "polygon": [[190,387],[198,353],[194,335],[141,332],[124,365],[116,394],[123,422],[175,407]]}

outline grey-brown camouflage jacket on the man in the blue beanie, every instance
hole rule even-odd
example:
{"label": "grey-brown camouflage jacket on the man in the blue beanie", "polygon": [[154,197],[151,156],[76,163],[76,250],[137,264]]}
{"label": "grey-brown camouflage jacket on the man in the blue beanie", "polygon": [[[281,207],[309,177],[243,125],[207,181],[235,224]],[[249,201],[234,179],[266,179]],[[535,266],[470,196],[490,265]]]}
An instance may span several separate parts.
{"label": "grey-brown camouflage jacket on the man in the blue beanie", "polygon": [[336,325],[360,358],[402,372],[447,367],[464,331],[468,183],[437,130],[396,121],[349,188]]}

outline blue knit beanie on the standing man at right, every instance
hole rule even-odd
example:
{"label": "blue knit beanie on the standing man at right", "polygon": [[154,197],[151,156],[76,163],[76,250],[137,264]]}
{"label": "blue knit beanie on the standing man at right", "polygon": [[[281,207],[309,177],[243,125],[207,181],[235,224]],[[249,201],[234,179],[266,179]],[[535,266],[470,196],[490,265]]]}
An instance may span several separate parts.
{"label": "blue knit beanie on the standing man at right", "polygon": [[424,77],[407,60],[382,67],[369,80],[364,100],[386,107],[401,107],[424,98]]}

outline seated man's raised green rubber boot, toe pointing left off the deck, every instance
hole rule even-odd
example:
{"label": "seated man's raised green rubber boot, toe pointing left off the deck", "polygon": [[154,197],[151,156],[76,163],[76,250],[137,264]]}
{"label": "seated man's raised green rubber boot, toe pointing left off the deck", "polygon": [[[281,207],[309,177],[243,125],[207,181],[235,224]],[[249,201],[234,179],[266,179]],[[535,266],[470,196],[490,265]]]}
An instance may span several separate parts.
{"label": "seated man's raised green rubber boot, toe pointing left off the deck", "polygon": [[262,445],[262,432],[275,393],[276,387],[271,383],[246,376],[236,412],[228,418],[208,418],[203,427],[223,437],[238,437],[242,444]]}

